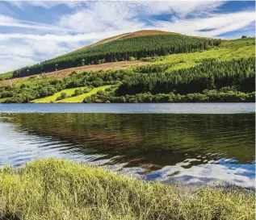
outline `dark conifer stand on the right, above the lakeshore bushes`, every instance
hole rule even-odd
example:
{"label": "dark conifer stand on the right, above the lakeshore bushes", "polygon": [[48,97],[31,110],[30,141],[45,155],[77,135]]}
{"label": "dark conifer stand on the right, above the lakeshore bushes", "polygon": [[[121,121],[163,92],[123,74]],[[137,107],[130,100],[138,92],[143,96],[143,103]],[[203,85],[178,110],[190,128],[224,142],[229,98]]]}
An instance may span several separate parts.
{"label": "dark conifer stand on the right, above the lakeshore bushes", "polygon": [[193,68],[179,69],[172,73],[135,73],[126,77],[116,90],[117,96],[136,93],[202,93],[204,89],[237,86],[243,92],[255,88],[255,60],[236,59],[220,61],[203,60]]}

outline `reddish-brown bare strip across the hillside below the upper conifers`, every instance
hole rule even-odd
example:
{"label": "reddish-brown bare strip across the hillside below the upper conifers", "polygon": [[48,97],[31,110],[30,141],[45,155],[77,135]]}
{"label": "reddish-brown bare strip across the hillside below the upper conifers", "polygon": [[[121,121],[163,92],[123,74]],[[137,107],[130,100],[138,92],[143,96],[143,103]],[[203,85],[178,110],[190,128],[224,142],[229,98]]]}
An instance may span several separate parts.
{"label": "reddish-brown bare strip across the hillside below the upper conifers", "polygon": [[[99,70],[109,70],[109,69],[122,69],[128,68],[129,66],[147,64],[148,62],[136,60],[136,61],[120,61],[120,62],[111,62],[106,64],[94,64],[94,65],[86,65],[82,67],[74,67],[74,68],[65,68],[62,70],[54,71],[52,73],[42,73],[38,75],[34,75],[36,77],[56,77],[58,79],[62,79],[68,77],[73,71],[77,73],[82,72],[90,72],[90,71],[99,71]],[[28,77],[19,77],[10,80],[0,81],[0,85],[12,85],[16,82],[26,80]]]}

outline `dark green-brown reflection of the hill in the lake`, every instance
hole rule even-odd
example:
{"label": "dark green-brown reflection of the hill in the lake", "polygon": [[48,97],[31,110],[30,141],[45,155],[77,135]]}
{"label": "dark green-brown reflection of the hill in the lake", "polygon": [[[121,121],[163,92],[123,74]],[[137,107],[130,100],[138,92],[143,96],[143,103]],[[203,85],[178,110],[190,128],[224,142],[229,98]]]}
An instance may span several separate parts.
{"label": "dark green-brown reflection of the hill in the lake", "polygon": [[[5,115],[7,116],[7,115]],[[73,143],[128,166],[254,160],[254,114],[9,114],[19,131]],[[8,122],[10,122],[8,120]],[[150,168],[150,166],[149,166]],[[153,168],[157,168],[154,166]]]}

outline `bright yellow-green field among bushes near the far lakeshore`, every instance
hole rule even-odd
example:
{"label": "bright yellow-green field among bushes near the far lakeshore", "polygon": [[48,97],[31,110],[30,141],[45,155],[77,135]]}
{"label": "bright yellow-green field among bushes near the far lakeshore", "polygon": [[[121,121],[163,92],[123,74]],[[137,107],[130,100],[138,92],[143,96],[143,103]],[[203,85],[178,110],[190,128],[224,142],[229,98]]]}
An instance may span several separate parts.
{"label": "bright yellow-green field among bushes near the far lakeshore", "polygon": [[[90,97],[92,94],[94,93],[97,93],[99,90],[105,90],[107,88],[111,87],[111,85],[103,85],[103,86],[100,86],[98,88],[94,88],[92,89],[89,93],[83,93],[82,95],[78,95],[78,96],[75,96],[75,97],[70,97],[70,98],[65,98],[65,99],[62,99],[60,101],[56,101],[56,99],[61,95],[61,93],[66,93],[67,96],[71,96],[73,94],[73,92],[76,90],[76,89],[86,89],[86,87],[78,87],[78,88],[73,88],[73,89],[64,89],[64,90],[61,90],[61,92],[58,92],[58,93],[54,93],[54,95],[52,96],[48,96],[48,97],[45,97],[45,98],[38,98],[38,99],[35,99],[31,102],[33,103],[50,103],[50,102],[59,102],[59,103],[65,103],[65,102],[82,102],[86,97]],[[0,99],[0,102],[1,102],[1,99]]]}

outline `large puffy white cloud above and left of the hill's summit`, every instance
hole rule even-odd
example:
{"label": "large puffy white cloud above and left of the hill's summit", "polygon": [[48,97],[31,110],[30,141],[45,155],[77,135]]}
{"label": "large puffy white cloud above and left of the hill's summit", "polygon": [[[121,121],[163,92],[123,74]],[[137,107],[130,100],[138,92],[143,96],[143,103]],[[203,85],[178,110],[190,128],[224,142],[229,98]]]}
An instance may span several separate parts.
{"label": "large puffy white cloud above and left of the hill's summit", "polygon": [[132,10],[124,10],[121,2],[94,2],[89,8],[72,15],[63,15],[59,25],[76,32],[117,31],[128,32],[145,27]]}

